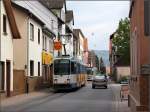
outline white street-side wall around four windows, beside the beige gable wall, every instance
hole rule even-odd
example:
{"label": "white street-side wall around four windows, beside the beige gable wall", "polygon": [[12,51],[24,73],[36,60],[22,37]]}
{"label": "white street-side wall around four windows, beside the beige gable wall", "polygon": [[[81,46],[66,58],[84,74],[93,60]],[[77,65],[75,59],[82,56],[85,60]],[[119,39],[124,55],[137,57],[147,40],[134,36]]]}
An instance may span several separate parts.
{"label": "white street-side wall around four windows, beside the beige gable wall", "polygon": [[[34,25],[34,41],[30,40],[30,23]],[[28,74],[30,76],[30,60],[34,61],[34,76],[38,76],[38,62],[40,62],[40,76],[42,76],[42,27],[32,19],[29,19],[29,58]],[[40,44],[38,44],[38,28],[40,29]]]}

